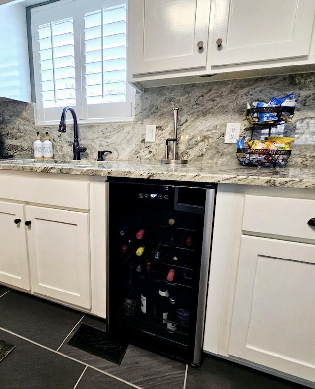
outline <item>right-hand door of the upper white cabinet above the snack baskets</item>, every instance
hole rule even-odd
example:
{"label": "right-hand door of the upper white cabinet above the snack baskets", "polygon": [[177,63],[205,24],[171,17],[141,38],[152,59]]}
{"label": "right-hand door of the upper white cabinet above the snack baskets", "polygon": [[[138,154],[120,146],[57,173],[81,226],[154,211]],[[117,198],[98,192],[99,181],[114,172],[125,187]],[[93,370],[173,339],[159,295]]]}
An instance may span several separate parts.
{"label": "right-hand door of the upper white cabinet above the snack baskets", "polygon": [[216,0],[211,65],[307,56],[314,13],[314,0]]}

